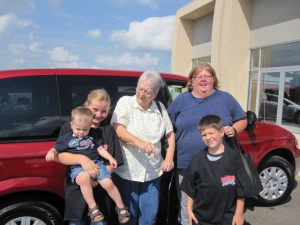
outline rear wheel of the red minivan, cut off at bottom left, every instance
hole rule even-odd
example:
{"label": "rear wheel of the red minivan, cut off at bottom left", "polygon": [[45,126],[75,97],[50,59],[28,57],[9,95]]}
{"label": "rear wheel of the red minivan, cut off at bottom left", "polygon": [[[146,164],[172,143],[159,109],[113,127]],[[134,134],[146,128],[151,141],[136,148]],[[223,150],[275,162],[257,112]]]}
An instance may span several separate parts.
{"label": "rear wheel of the red minivan, cut off at bottom left", "polygon": [[20,224],[63,225],[59,212],[45,202],[19,202],[0,209],[1,225]]}

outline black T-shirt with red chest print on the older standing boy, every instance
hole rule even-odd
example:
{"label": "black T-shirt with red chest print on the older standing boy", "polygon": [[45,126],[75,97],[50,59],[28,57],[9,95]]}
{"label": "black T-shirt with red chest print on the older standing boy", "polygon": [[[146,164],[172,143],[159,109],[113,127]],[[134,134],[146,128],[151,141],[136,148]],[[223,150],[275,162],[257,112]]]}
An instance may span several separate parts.
{"label": "black T-shirt with red chest print on the older standing boy", "polygon": [[193,212],[201,225],[231,225],[237,198],[252,194],[240,155],[224,146],[224,153],[217,161],[207,158],[207,148],[200,151],[181,183],[182,190],[194,200]]}

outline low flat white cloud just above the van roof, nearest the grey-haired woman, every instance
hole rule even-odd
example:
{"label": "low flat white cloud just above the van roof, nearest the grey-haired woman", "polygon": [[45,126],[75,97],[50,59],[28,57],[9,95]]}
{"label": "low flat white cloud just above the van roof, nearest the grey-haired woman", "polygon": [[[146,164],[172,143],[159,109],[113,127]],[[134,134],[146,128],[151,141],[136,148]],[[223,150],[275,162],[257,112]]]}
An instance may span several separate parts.
{"label": "low flat white cloud just above the van roof, nearest the grey-haired woman", "polygon": [[155,67],[159,62],[159,58],[152,57],[146,53],[144,56],[134,56],[129,52],[124,52],[120,56],[102,55],[96,58],[96,64],[105,67],[131,67],[131,68],[151,68]]}

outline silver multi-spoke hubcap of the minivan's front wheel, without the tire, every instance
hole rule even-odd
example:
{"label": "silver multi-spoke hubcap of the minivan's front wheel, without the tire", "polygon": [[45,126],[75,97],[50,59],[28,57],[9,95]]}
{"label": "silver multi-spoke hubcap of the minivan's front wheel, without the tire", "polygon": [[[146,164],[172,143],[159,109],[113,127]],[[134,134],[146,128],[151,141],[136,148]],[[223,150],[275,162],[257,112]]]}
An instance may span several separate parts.
{"label": "silver multi-spoke hubcap of the minivan's front wheel, without the tire", "polygon": [[275,200],[286,192],[288,176],[280,167],[268,167],[260,172],[259,177],[263,186],[260,196],[263,199]]}

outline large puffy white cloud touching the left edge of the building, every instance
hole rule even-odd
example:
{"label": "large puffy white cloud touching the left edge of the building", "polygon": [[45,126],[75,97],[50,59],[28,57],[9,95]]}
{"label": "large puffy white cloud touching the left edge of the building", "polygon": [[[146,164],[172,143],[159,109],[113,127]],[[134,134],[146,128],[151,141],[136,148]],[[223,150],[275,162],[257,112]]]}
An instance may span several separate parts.
{"label": "large puffy white cloud touching the left edge of the building", "polygon": [[131,22],[129,30],[114,31],[110,40],[131,49],[171,51],[175,16]]}

